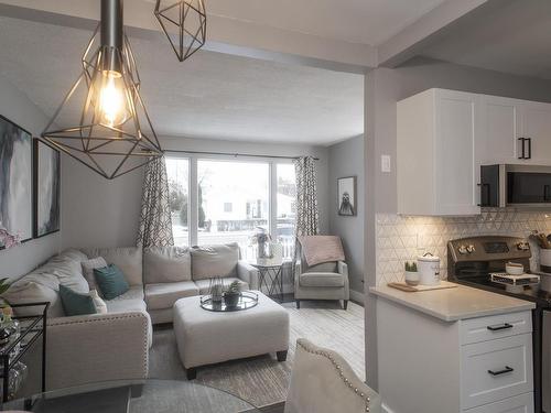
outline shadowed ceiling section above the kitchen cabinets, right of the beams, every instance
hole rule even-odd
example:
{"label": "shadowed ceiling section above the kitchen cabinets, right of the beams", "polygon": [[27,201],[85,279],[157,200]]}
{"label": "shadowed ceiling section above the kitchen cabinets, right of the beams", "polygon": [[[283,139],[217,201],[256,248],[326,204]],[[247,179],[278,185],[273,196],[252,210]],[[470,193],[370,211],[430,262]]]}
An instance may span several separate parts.
{"label": "shadowed ceiling section above the kitchen cabinets, right of the beams", "polygon": [[491,0],[420,54],[551,79],[551,1]]}

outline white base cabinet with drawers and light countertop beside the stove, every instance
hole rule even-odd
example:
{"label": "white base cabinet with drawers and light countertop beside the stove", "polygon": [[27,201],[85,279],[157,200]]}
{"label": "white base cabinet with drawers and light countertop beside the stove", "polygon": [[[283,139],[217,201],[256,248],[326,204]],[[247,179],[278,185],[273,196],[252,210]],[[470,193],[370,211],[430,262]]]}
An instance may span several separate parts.
{"label": "white base cabinet with drawers and light countertop beside the stove", "polygon": [[387,412],[533,412],[533,303],[464,285],[370,293]]}

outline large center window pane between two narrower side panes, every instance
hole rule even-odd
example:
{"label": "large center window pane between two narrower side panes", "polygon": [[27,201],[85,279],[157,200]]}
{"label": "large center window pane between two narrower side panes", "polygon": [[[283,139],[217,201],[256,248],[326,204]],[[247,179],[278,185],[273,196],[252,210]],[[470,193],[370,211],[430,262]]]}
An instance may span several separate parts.
{"label": "large center window pane between two narrower side panes", "polygon": [[268,163],[197,161],[197,243],[238,242],[248,256],[257,227],[269,230]]}

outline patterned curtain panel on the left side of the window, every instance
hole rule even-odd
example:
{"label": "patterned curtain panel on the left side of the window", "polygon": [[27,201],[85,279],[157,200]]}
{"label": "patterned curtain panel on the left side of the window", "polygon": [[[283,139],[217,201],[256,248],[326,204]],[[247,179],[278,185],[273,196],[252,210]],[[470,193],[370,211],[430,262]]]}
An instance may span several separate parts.
{"label": "patterned curtain panel on the left side of the window", "polygon": [[164,156],[154,159],[145,166],[137,244],[139,247],[174,244]]}

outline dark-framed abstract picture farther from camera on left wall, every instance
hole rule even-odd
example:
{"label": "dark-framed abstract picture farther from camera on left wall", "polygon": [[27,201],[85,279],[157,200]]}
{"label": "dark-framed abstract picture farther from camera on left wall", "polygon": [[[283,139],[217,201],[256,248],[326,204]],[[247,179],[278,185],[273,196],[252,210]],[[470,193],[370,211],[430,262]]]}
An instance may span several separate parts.
{"label": "dark-framed abstract picture farther from camera on left wall", "polygon": [[40,139],[34,140],[34,238],[57,232],[61,227],[61,154]]}

